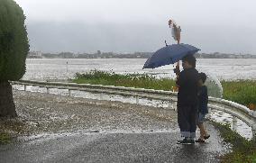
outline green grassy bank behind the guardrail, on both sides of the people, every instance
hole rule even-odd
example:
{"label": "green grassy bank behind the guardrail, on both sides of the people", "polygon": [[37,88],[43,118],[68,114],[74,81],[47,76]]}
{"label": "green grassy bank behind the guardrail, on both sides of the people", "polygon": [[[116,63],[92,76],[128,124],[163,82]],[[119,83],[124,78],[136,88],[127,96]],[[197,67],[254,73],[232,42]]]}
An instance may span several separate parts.
{"label": "green grassy bank behind the guardrail, on both sides of the people", "polygon": [[[78,84],[140,87],[166,91],[175,90],[175,80],[173,79],[157,78],[146,74],[120,75],[114,72],[99,70],[92,70],[85,74],[77,73],[72,82]],[[251,110],[256,110],[256,81],[221,81],[221,84],[224,89],[224,99],[246,105]]]}

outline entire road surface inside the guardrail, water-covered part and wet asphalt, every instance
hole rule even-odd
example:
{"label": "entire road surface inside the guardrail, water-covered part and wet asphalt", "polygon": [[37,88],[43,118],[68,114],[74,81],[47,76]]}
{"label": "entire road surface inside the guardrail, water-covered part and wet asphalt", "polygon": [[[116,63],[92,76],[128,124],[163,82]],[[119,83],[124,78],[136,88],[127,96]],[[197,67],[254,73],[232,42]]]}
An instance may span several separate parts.
{"label": "entire road surface inside the guardrail, water-covered part and wet asphalt", "polygon": [[[218,162],[218,157],[228,149],[211,124],[207,124],[211,138],[205,144],[178,145],[175,112],[167,109],[114,102],[109,105],[59,95],[14,94],[18,113],[23,115],[26,125],[35,123],[29,127],[34,133],[20,135],[15,142],[0,146],[0,162]],[[36,100],[39,96],[41,100]],[[63,104],[69,107],[69,112],[63,109]],[[79,112],[73,113],[69,104]],[[48,108],[46,113],[54,107],[53,119],[40,119],[45,112],[33,113],[44,110],[43,107]],[[92,122],[72,127],[94,121],[95,114],[101,116],[106,111],[111,114],[106,114],[95,126]],[[88,116],[63,124],[83,112],[94,118]],[[63,116],[65,120],[59,118]],[[48,129],[50,125],[55,128]]]}

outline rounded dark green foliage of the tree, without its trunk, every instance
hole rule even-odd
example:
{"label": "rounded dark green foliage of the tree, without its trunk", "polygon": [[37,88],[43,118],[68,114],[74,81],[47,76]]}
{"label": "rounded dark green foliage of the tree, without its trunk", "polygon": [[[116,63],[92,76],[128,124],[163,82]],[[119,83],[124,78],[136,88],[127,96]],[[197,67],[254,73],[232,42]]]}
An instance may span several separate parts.
{"label": "rounded dark green foliage of the tree, without its trunk", "polygon": [[0,81],[19,80],[25,73],[29,44],[24,20],[14,0],[0,1]]}

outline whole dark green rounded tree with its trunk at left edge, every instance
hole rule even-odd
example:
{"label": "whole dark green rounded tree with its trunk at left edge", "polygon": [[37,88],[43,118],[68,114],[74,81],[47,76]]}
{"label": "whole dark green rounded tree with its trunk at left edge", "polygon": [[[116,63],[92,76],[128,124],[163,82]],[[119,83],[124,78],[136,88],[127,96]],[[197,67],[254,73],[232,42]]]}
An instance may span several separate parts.
{"label": "whole dark green rounded tree with its trunk at left edge", "polygon": [[12,86],[25,73],[29,41],[23,9],[14,0],[0,0],[0,117],[15,117]]}

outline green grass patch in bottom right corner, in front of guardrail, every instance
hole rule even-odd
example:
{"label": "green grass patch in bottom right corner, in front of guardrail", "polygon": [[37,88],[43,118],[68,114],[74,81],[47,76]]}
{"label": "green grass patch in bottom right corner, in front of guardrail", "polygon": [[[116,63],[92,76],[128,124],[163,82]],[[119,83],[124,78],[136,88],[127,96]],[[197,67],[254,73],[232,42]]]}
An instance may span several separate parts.
{"label": "green grass patch in bottom right corner, in front of guardrail", "polygon": [[237,132],[230,129],[229,124],[214,122],[225,142],[232,144],[232,152],[221,157],[223,163],[252,163],[256,162],[256,140],[246,140]]}

